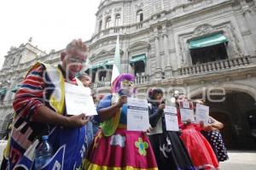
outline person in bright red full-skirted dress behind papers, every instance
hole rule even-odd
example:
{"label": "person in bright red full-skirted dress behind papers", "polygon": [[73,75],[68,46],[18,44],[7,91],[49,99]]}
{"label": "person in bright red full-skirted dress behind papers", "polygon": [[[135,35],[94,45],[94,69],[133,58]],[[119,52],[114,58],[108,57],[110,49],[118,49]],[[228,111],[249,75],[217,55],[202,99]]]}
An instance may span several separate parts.
{"label": "person in bright red full-skirted dress behind papers", "polygon": [[[189,108],[193,110],[193,103],[191,103],[184,94],[177,96],[177,115],[180,116],[180,109],[183,109],[183,102],[189,102]],[[181,120],[181,118],[179,118]],[[189,151],[189,156],[198,169],[210,170],[212,168],[218,168],[218,159],[212,150],[211,144],[200,133],[202,127],[198,124],[188,120],[187,122],[179,122],[179,126],[182,128],[181,139]]]}

